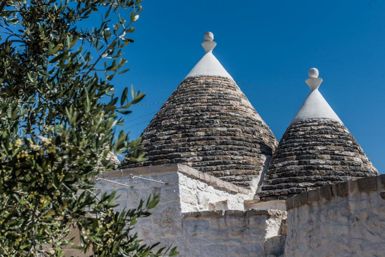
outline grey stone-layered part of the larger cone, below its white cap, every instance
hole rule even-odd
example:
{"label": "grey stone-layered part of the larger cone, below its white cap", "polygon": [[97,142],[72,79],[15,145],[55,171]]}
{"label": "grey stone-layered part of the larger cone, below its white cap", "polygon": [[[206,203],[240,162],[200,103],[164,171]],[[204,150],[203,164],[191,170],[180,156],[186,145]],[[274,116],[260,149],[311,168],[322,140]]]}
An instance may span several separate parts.
{"label": "grey stone-layered part of the larger cone, below its white cap", "polygon": [[119,169],[183,163],[248,187],[278,142],[231,79],[184,79],[142,133],[148,161]]}

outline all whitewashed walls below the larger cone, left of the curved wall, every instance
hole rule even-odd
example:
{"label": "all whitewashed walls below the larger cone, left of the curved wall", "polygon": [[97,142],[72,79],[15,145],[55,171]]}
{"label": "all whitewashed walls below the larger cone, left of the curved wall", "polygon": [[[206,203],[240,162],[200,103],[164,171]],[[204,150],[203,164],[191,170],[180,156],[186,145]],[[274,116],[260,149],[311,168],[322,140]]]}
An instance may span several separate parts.
{"label": "all whitewashed walls below the larger cone, left of the curved wall", "polygon": [[[177,170],[166,172],[163,168],[159,172],[160,168],[156,166],[153,169],[154,172],[138,168],[135,175],[162,180],[167,185],[132,179],[130,172],[107,171],[100,174],[100,177],[127,183],[132,188],[103,180],[96,181],[95,188],[100,190],[100,194],[117,190],[120,197],[116,201],[119,206],[115,209],[119,211],[123,208],[136,208],[140,200],[146,200],[150,194],[160,195],[157,208],[152,215],[139,220],[134,232],[138,233],[144,243],[177,245],[181,252],[179,256],[260,256],[264,251],[265,239],[278,235],[281,220],[286,218],[286,212],[279,210],[244,211],[244,199],[249,197],[246,193],[208,185]],[[187,171],[193,173],[192,168],[187,167]],[[226,201],[226,205],[222,206],[233,210],[209,211],[211,203],[221,201]],[[199,212],[195,212],[197,210]],[[194,213],[198,213],[199,217]]]}

